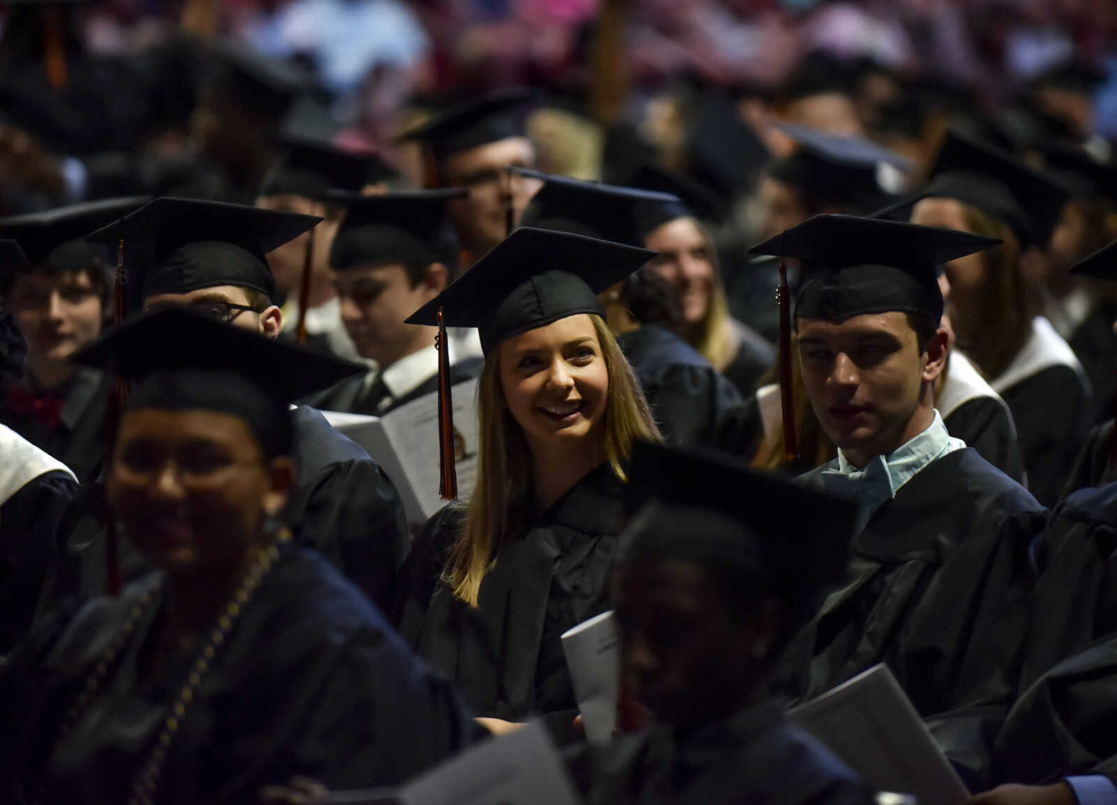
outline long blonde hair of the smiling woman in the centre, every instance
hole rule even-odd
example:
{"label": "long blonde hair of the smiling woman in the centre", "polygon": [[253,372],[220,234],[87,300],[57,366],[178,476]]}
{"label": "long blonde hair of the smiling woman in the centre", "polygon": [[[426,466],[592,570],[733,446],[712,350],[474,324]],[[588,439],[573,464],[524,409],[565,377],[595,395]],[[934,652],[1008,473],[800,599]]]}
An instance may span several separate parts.
{"label": "long blonde hair of the smiling woman in the centre", "polygon": [[[617,477],[626,480],[623,466],[632,443],[638,439],[658,442],[659,430],[617,339],[600,316],[590,318],[609,373],[605,456]],[[477,606],[481,581],[500,552],[527,530],[536,514],[532,452],[523,429],[504,404],[496,351],[485,361],[477,394],[477,482],[442,574],[455,597],[470,606]]]}

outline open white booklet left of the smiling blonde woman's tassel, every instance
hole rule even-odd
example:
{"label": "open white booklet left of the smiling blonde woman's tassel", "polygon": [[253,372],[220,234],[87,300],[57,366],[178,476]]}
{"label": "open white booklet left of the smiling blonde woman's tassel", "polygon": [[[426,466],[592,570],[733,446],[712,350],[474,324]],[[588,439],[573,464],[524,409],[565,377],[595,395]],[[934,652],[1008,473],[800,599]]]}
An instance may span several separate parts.
{"label": "open white booklet left of the smiling blonde woman's tassel", "polygon": [[[477,381],[450,390],[454,401],[458,493],[468,497],[477,478]],[[442,508],[438,493],[438,394],[412,400],[384,416],[323,411],[334,428],[369,451],[392,479],[408,523],[421,526]]]}

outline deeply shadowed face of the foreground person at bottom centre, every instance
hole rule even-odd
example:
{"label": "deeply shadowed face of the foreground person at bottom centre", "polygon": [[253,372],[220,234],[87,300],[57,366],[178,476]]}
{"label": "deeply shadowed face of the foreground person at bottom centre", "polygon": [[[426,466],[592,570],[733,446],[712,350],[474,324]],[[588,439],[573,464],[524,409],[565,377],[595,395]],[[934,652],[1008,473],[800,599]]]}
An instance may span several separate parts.
{"label": "deeply shadowed face of the foreground person at bottom centre", "polygon": [[638,559],[613,582],[621,673],[665,723],[697,726],[748,698],[762,677],[753,646],[764,626],[736,613],[719,579],[677,559]]}

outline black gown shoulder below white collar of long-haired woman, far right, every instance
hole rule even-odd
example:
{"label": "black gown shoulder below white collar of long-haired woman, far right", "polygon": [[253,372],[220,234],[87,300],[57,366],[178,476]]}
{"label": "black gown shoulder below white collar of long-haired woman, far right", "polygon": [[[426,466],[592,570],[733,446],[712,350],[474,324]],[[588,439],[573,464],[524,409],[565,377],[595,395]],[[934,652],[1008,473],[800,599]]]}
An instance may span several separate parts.
{"label": "black gown shoulder below white collar of long-haired woman, far right", "polygon": [[1090,432],[1090,391],[1070,366],[1049,366],[1004,389],[1016,423],[1028,488],[1046,506],[1058,502]]}

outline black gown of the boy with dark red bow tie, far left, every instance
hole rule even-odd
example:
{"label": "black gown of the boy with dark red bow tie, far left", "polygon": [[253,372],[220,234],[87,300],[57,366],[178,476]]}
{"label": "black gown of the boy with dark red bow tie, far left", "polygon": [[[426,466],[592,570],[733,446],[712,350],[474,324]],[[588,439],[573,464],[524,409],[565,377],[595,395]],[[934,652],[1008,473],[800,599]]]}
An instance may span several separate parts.
{"label": "black gown of the boy with dark red bow tie, far left", "polygon": [[83,367],[58,390],[63,409],[57,427],[35,414],[17,414],[8,400],[0,403],[0,423],[54,456],[86,483],[96,477],[105,456],[105,411],[111,391],[112,378]]}

